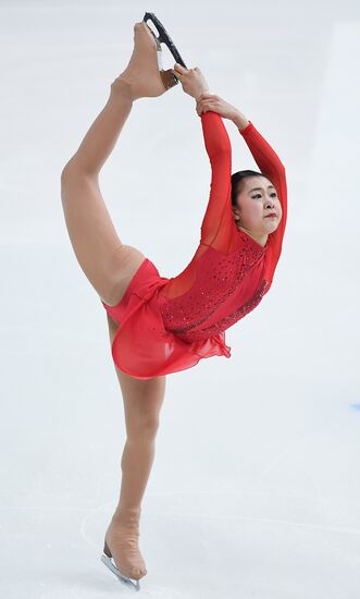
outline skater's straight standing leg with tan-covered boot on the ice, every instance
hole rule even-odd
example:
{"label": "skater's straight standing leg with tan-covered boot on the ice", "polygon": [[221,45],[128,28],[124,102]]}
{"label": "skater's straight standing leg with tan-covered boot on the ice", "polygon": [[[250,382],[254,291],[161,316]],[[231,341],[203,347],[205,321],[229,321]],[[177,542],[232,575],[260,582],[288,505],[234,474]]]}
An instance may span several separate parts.
{"label": "skater's straight standing leg with tan-covered boot on the ice", "polygon": [[[116,330],[110,316],[110,343]],[[166,377],[139,380],[120,370],[126,442],[122,455],[122,482],[117,508],[108,527],[105,539],[116,566],[125,576],[139,579],[147,574],[138,547],[141,500],[154,460],[159,414],[165,395]]]}

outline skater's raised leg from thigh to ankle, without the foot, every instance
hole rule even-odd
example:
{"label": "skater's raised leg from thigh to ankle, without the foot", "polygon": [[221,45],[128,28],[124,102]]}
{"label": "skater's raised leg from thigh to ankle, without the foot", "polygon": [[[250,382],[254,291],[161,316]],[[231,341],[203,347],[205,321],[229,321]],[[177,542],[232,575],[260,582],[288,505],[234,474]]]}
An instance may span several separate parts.
{"label": "skater's raised leg from thigh to ankle, without the foot", "polygon": [[87,279],[101,300],[122,298],[144,254],[119,237],[100,192],[98,172],[132,108],[126,95],[113,91],[61,176],[61,199],[67,233]]}

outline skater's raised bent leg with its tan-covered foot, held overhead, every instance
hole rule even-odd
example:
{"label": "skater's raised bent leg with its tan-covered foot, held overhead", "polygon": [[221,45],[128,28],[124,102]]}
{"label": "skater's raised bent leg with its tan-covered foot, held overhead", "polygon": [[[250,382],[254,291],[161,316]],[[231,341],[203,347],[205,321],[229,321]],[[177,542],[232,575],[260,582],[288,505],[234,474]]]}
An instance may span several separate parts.
{"label": "skater's raised bent leg with its tan-covered foot, held overhead", "polygon": [[145,23],[134,26],[134,51],[111,84],[109,99],[61,174],[61,199],[76,258],[101,300],[115,305],[145,259],[119,237],[99,187],[99,172],[115,146],[135,99],[165,91],[157,44]]}

